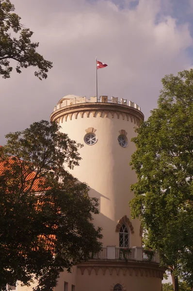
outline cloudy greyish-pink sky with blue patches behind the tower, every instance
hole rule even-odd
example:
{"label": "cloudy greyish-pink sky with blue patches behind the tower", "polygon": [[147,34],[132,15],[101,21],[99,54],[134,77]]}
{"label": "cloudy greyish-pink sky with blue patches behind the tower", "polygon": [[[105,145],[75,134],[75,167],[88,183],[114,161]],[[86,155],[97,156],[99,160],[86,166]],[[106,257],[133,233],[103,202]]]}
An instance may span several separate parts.
{"label": "cloudy greyish-pink sky with blue patches behind the tower", "polygon": [[34,68],[0,79],[0,144],[10,131],[49,119],[68,94],[123,97],[145,117],[157,106],[161,78],[193,65],[193,0],[12,0],[38,52],[53,62],[48,79]]}

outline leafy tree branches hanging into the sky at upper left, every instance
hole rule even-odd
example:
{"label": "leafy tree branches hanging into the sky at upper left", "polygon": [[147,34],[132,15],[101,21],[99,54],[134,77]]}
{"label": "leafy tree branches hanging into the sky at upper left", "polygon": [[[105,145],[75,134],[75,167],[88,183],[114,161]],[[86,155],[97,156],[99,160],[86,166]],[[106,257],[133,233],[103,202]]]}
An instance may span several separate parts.
{"label": "leafy tree branches hanging into the sky at upper left", "polygon": [[[38,71],[34,75],[40,80],[46,79],[52,63],[36,52],[39,43],[31,42],[33,32],[23,28],[21,18],[13,13],[14,10],[15,7],[9,0],[0,0],[0,75],[5,79],[10,78],[12,59],[17,62],[17,73],[21,73],[21,68],[35,66]],[[19,38],[16,38],[18,32]]]}

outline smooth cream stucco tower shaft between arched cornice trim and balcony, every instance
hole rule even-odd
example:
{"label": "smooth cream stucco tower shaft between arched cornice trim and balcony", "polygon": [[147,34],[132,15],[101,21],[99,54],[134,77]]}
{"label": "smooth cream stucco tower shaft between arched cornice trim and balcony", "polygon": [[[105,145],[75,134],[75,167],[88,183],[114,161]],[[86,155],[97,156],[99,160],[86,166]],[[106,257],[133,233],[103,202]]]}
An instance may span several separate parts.
{"label": "smooth cream stucco tower shaft between arched cornice trim and balcony", "polygon": [[[135,151],[130,139],[135,136],[136,125],[127,118],[117,118],[116,113],[113,118],[102,113],[101,117],[99,114],[96,117],[84,114],[83,118],[78,114],[77,119],[73,115],[72,120],[67,117],[60,126],[71,139],[84,145],[80,149],[80,166],[70,172],[90,186],[91,197],[99,199],[100,214],[96,215],[94,223],[103,228],[103,245],[119,246],[116,224],[124,215],[131,221],[128,203],[133,197],[130,185],[136,181],[136,175],[129,166],[131,154]],[[93,146],[84,143],[85,129],[88,128],[96,129],[97,142]],[[125,148],[117,141],[121,129],[128,132],[128,146]],[[134,234],[130,234],[130,246],[141,246],[140,222],[134,220],[132,225]]]}

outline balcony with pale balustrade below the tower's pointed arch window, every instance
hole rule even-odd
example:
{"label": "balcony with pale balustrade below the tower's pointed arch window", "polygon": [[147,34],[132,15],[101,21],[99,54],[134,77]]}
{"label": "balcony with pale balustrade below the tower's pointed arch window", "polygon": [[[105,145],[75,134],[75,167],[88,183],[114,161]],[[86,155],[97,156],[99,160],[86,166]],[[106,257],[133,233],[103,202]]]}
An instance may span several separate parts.
{"label": "balcony with pale balustrade below the tower's pointed arch window", "polygon": [[91,254],[91,259],[138,260],[160,263],[157,252],[145,250],[142,247],[122,248],[116,246],[102,247],[97,254]]}

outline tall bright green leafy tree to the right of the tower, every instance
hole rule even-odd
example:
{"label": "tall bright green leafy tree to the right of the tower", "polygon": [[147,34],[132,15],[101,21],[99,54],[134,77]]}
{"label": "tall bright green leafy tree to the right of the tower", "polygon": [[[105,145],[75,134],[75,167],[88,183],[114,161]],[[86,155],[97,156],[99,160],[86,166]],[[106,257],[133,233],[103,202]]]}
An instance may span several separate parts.
{"label": "tall bright green leafy tree to the right of the tower", "polygon": [[193,70],[167,75],[158,108],[136,129],[131,165],[133,217],[141,217],[145,244],[161,265],[193,286]]}

